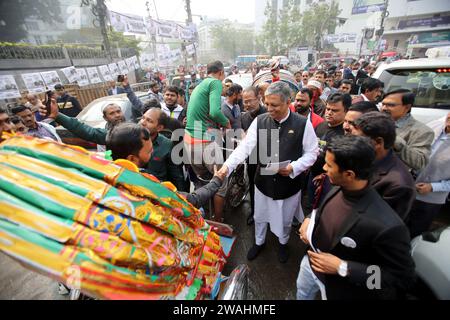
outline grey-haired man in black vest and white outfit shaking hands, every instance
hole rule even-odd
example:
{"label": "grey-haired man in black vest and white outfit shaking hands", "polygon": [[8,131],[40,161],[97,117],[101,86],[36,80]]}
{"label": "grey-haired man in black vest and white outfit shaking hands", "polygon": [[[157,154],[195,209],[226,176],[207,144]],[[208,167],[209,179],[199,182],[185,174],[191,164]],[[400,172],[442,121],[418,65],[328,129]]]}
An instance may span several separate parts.
{"label": "grey-haired man in black vest and white outfit shaking hands", "polygon": [[[280,242],[278,258],[288,260],[287,244],[292,220],[303,220],[300,206],[300,174],[316,161],[318,142],[312,124],[289,110],[291,90],[283,82],[270,85],[265,93],[268,113],[260,115],[247,136],[221,169],[230,174],[248,156],[258,165],[255,177],[256,244],[247,259],[255,259],[264,247],[267,227]],[[258,146],[258,148],[256,148]],[[253,152],[258,150],[257,152]]]}

